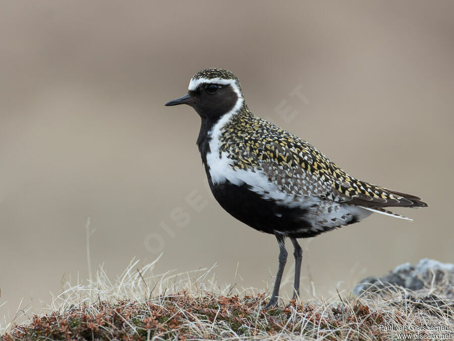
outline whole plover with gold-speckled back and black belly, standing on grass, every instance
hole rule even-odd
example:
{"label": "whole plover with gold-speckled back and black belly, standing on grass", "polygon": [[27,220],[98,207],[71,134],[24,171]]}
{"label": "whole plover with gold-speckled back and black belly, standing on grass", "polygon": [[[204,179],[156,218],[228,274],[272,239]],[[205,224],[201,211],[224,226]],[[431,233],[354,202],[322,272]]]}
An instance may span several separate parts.
{"label": "whole plover with gold-speckled back and black belly, standing on grass", "polygon": [[201,118],[197,147],[216,201],[234,218],[277,239],[278,268],[265,309],[278,302],[287,237],[294,247],[297,299],[303,256],[298,238],[360,222],[372,213],[411,220],[386,208],[428,206],[419,197],[350,176],[305,140],[254,115],[240,80],[229,70],[197,72],[187,94],[165,106],[182,104]]}

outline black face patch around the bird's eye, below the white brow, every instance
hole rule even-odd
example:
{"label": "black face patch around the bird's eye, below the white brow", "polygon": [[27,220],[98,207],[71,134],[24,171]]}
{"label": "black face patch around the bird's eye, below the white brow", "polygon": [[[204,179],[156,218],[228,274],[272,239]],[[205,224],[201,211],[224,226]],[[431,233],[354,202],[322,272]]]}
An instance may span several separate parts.
{"label": "black face patch around the bird's eye, below the white brow", "polygon": [[238,101],[238,95],[230,84],[201,83],[189,94],[194,100],[190,106],[202,118],[220,117],[231,111]]}

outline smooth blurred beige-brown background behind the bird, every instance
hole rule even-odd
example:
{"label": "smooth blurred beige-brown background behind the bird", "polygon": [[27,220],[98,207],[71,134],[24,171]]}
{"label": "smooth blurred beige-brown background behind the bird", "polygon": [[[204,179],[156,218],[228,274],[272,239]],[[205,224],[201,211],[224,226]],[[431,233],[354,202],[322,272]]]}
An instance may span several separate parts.
{"label": "smooth blurred beige-brown background behind the bird", "polygon": [[[225,283],[239,262],[239,286],[271,283],[274,237],[214,202],[199,117],[163,107],[211,66],[240,77],[255,114],[431,206],[397,210],[413,223],[373,215],[303,241],[303,298],[309,273],[332,293],[403,262],[454,261],[454,3],[9,1],[0,17],[2,320],[22,297],[48,303],[64,274],[87,278],[87,217],[93,269],[112,277],[162,247],[156,272],[217,262]],[[289,96],[296,86],[308,101]],[[276,113],[284,100],[291,121]]]}

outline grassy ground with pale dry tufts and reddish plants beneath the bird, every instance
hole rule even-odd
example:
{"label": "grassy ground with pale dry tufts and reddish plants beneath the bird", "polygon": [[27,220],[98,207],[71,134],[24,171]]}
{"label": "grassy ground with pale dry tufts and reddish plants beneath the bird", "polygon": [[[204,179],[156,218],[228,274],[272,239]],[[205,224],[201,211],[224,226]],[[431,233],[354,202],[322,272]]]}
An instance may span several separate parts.
{"label": "grassy ground with pale dry tufts and reddish plants beneath the bird", "polygon": [[[67,283],[47,314],[10,325],[17,339],[413,339],[454,338],[454,301],[443,288],[399,287],[356,299],[338,293],[265,311],[269,295],[214,283],[212,269],[153,275],[132,262],[117,280],[102,269],[86,284]],[[432,327],[431,327],[432,326]],[[399,330],[403,328],[421,330]],[[438,328],[438,330],[430,330]],[[429,337],[432,336],[432,337]]]}

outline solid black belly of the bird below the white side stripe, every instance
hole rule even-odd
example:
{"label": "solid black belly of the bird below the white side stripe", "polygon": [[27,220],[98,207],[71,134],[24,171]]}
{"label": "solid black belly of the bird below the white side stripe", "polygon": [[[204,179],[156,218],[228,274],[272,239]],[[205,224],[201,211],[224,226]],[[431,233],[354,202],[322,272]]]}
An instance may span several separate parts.
{"label": "solid black belly of the bird below the white side stripe", "polygon": [[261,232],[280,231],[290,237],[313,237],[323,231],[314,231],[305,219],[306,209],[279,205],[274,200],[263,199],[247,184],[241,186],[226,181],[212,184],[214,198],[232,216]]}

